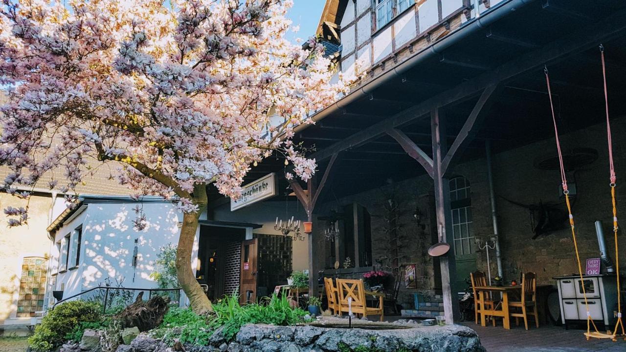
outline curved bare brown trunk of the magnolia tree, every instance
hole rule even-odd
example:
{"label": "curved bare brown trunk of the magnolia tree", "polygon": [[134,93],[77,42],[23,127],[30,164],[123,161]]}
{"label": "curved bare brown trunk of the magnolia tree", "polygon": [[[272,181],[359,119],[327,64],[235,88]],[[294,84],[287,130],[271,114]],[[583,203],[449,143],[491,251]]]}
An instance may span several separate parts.
{"label": "curved bare brown trunk of the magnolia tree", "polygon": [[207,190],[205,185],[197,185],[195,187],[193,200],[198,204],[199,209],[198,212],[185,213],[183,215],[183,225],[180,229],[180,238],[178,239],[176,252],[176,273],[180,287],[187,294],[193,311],[197,314],[203,314],[212,312],[213,306],[193,273],[192,251],[193,241],[198,229],[198,219],[200,219],[200,214],[207,207]]}

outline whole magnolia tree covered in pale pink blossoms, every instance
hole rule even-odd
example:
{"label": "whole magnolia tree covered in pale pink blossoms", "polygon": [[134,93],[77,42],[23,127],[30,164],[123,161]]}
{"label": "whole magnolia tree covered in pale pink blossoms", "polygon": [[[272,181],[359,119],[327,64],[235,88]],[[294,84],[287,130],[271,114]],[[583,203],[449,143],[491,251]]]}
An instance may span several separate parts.
{"label": "whole magnolia tree covered in pale pink blossoms", "polygon": [[[275,150],[302,179],[315,172],[293,128],[346,89],[330,83],[321,45],[285,39],[287,0],[2,1],[4,189],[75,194],[90,158],[121,165],[120,184],[182,210],[178,279],[193,309],[210,311],[190,265],[206,187],[237,197],[250,164]],[[5,212],[9,225],[28,220]]]}

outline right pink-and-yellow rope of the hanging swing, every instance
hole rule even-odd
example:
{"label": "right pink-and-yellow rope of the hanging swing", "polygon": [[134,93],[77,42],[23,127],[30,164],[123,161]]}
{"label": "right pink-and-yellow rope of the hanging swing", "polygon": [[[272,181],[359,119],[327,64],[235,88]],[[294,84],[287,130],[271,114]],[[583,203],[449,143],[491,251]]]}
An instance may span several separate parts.
{"label": "right pink-and-yellow rope of the hanging swing", "polygon": [[611,187],[611,203],[613,205],[613,238],[615,239],[615,271],[617,274],[617,322],[615,323],[615,329],[613,329],[613,341],[616,341],[617,331],[622,329],[622,336],[626,335],[624,332],[624,326],[622,322],[622,295],[620,294],[620,260],[619,251],[617,247],[617,205],[615,202],[615,167],[613,166],[613,142],[611,138],[611,123],[608,120],[608,90],[607,90],[607,68],[604,62],[604,46],[600,44],[600,59],[602,60],[602,79],[604,83],[604,102],[605,112],[607,115],[607,140],[608,140],[608,167],[609,167],[609,180]]}

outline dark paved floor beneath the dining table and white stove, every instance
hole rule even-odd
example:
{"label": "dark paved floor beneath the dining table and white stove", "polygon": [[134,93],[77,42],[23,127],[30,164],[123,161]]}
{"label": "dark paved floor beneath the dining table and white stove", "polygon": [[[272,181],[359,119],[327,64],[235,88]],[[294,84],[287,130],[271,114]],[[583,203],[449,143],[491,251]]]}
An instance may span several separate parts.
{"label": "dark paved floor beneath the dining table and white stove", "polygon": [[524,326],[511,326],[506,330],[500,326],[486,326],[480,324],[463,323],[469,328],[475,329],[480,336],[480,341],[487,352],[623,352],[626,351],[626,341],[618,339],[616,342],[610,339],[591,339],[587,341],[584,330],[565,330],[560,326],[541,326],[530,328]]}

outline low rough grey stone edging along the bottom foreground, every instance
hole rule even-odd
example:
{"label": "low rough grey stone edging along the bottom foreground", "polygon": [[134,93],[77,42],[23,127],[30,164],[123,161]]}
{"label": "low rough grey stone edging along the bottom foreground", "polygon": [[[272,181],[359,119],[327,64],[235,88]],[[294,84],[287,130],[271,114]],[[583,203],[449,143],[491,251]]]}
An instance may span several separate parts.
{"label": "low rough grey stone edging along the bottom foreground", "polygon": [[[210,338],[210,346],[185,346],[190,352],[210,351],[441,351],[484,352],[475,331],[465,326],[431,326],[408,329],[337,329],[315,326],[270,326],[248,324],[241,328],[234,341],[223,339],[220,329]],[[167,351],[157,339],[141,334],[130,345],[121,345],[117,352]]]}

